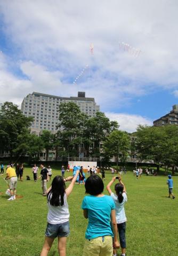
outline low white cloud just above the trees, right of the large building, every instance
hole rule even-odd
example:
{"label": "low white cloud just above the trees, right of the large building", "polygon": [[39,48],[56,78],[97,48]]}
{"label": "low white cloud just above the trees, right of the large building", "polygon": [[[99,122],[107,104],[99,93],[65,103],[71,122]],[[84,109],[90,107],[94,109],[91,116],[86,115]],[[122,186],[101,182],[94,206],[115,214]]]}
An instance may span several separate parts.
{"label": "low white cloud just above the trees, right of the large building", "polygon": [[130,115],[124,113],[106,113],[110,121],[117,121],[120,125],[119,129],[127,132],[135,132],[139,124],[152,125],[152,121],[140,115]]}

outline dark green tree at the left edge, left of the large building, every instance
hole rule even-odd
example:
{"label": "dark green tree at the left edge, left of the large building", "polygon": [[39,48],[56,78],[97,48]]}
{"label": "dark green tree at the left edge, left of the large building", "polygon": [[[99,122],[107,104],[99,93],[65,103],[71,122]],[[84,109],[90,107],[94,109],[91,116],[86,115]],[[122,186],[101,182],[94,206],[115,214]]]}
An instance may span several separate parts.
{"label": "dark green tree at the left edge, left of the large building", "polygon": [[18,136],[27,129],[33,117],[26,117],[12,102],[5,102],[0,110],[0,149],[10,151],[18,147]]}

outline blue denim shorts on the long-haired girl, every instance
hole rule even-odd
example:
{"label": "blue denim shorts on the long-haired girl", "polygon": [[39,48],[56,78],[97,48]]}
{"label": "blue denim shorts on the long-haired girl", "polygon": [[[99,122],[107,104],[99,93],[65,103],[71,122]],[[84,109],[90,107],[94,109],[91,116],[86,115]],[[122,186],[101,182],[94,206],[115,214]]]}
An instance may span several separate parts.
{"label": "blue denim shorts on the long-haired girl", "polygon": [[50,224],[47,222],[45,236],[47,237],[67,237],[69,235],[69,221],[60,224]]}

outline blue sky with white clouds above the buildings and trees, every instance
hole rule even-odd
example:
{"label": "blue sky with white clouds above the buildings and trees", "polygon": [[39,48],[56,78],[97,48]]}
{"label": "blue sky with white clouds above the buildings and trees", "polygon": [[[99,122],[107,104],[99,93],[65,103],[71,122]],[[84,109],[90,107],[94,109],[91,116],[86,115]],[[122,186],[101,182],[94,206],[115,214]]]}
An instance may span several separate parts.
{"label": "blue sky with white clouds above the buildings and trees", "polygon": [[86,91],[129,132],[178,103],[177,1],[12,0],[0,10],[0,102]]}

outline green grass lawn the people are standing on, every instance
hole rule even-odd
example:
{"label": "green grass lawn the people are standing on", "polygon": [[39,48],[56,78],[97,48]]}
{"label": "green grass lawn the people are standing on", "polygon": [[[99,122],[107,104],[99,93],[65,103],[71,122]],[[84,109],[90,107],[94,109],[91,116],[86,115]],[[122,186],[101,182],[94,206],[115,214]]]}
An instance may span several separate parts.
{"label": "green grass lawn the people are standing on", "polygon": [[[53,176],[61,174],[53,169]],[[69,173],[66,173],[69,175]],[[26,175],[31,180],[26,181]],[[71,173],[70,173],[71,175]],[[46,228],[46,197],[42,196],[41,181],[33,181],[31,169],[26,168],[24,181],[18,182],[17,194],[23,196],[16,201],[7,201],[6,183],[0,176],[0,255],[38,256],[44,242]],[[111,179],[106,174],[104,186]],[[175,199],[167,198],[166,177],[143,177],[136,180],[131,172],[123,175],[128,202],[127,216],[127,256],[178,255],[178,177],[173,178]],[[48,183],[48,186],[50,186]],[[106,189],[104,193],[107,194]],[[83,185],[75,185],[68,198],[70,211],[70,236],[67,255],[82,255],[85,242],[87,220],[80,209],[85,196]],[[57,240],[48,255],[58,255]],[[119,254],[120,255],[120,254]]]}

